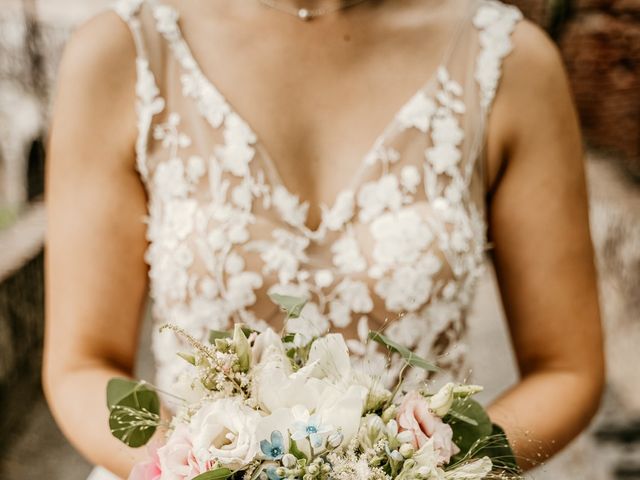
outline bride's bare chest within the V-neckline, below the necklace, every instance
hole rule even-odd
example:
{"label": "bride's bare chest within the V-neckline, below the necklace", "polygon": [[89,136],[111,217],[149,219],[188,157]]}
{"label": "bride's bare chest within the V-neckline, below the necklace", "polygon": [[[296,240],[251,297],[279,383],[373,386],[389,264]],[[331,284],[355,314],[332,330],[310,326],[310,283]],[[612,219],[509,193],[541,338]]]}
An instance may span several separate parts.
{"label": "bride's bare chest within the V-neckline, below the necklace", "polygon": [[430,6],[307,23],[268,10],[182,8],[204,75],[251,126],[282,182],[309,203],[310,226],[443,61],[463,13]]}

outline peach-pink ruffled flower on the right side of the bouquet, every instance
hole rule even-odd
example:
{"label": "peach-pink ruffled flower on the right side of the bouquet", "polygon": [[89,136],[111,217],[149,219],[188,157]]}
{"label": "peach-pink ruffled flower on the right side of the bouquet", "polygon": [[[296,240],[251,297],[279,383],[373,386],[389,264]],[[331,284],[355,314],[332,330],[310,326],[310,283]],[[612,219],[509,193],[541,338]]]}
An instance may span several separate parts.
{"label": "peach-pink ruffled flower on the right side of the bouquet", "polygon": [[451,427],[429,411],[426,398],[417,392],[409,392],[404,397],[398,410],[397,422],[401,432],[411,432],[414,448],[422,447],[431,439],[440,465],[448,463],[453,455],[460,452],[453,443]]}

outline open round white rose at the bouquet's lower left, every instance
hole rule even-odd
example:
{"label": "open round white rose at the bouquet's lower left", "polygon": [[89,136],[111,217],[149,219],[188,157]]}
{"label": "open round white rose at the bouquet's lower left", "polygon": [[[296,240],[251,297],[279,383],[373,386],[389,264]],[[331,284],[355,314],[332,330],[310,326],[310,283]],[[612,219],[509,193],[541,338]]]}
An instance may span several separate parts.
{"label": "open round white rose at the bouquet's lower left", "polygon": [[222,398],[205,404],[191,418],[193,451],[203,464],[217,460],[220,465],[239,469],[258,453],[256,427],[260,414],[237,398]]}

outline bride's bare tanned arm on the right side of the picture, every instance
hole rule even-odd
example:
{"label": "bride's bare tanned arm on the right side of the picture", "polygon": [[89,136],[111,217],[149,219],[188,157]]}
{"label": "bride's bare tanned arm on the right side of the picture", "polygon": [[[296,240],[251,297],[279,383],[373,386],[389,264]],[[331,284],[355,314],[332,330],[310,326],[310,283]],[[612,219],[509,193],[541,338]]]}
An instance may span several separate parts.
{"label": "bride's bare tanned arm on the right side of the picture", "polygon": [[521,381],[490,408],[529,468],[584,429],[604,359],[582,139],[553,42],[521,22],[489,120],[490,239]]}

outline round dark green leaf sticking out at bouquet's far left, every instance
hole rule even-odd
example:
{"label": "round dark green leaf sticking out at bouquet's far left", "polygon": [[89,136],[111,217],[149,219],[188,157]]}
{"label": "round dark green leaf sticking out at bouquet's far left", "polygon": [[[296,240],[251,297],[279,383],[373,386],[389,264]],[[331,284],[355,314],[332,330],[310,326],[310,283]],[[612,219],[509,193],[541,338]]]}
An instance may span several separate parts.
{"label": "round dark green leaf sticking out at bouquet's far left", "polygon": [[160,422],[160,399],[144,382],[109,380],[107,406],[111,434],[129,447],[145,445]]}

